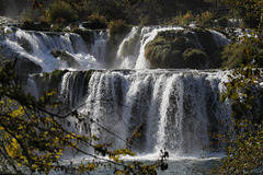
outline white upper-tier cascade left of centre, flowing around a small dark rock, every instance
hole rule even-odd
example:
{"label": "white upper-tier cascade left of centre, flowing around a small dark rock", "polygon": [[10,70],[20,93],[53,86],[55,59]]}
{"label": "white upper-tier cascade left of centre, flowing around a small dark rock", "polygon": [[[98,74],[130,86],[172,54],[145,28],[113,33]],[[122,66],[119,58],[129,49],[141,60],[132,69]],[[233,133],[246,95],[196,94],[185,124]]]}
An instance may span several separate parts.
{"label": "white upper-tier cascade left of centre, flowing around a small dark rock", "polygon": [[105,32],[93,33],[94,44],[91,49],[78,34],[33,32],[20,28],[5,28],[8,33],[0,44],[10,57],[23,57],[39,65],[43,72],[52,72],[56,69],[70,69],[64,60],[52,55],[53,49],[66,51],[67,55],[79,62],[80,70],[102,69],[100,60],[105,59],[105,46],[107,36]]}

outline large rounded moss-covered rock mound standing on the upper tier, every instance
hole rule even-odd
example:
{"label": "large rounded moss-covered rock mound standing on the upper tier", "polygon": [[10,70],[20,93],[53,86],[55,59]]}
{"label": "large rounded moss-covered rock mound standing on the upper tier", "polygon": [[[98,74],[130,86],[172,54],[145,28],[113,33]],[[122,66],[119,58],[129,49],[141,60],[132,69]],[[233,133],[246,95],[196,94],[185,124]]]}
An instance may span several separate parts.
{"label": "large rounded moss-covered rock mound standing on the upper tier", "polygon": [[159,32],[145,56],[151,68],[207,69],[220,67],[219,49],[209,31],[186,28]]}

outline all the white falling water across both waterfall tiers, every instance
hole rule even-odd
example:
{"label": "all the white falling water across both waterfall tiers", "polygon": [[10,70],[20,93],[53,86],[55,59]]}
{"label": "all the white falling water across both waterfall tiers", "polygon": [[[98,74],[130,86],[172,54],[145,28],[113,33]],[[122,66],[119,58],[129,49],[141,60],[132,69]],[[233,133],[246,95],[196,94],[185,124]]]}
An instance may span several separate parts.
{"label": "all the white falling water across both waterfall tiers", "polygon": [[[128,143],[139,155],[158,154],[164,148],[174,158],[199,155],[209,147],[208,132],[224,132],[219,122],[230,113],[219,100],[226,72],[147,69],[145,46],[158,32],[168,30],[184,28],[134,27],[124,38],[113,68],[134,70],[98,70],[107,68],[106,32],[94,32],[94,42],[88,47],[77,34],[12,30],[13,33],[1,39],[1,45],[38,63],[43,72],[70,69],[56,82],[58,96],[64,104],[78,108],[115,136],[99,130],[99,126],[88,119],[82,122],[69,119],[68,122],[76,122],[70,126],[78,126],[78,132],[94,133],[101,138],[99,142],[118,149],[126,148],[126,139],[141,126],[141,136]],[[218,47],[228,44],[224,35],[213,31],[211,34]],[[70,68],[50,54],[53,49],[66,51],[81,67]],[[87,73],[89,69],[96,70]],[[45,86],[39,83],[42,78],[43,74],[30,75],[26,91],[39,97],[38,89]]]}

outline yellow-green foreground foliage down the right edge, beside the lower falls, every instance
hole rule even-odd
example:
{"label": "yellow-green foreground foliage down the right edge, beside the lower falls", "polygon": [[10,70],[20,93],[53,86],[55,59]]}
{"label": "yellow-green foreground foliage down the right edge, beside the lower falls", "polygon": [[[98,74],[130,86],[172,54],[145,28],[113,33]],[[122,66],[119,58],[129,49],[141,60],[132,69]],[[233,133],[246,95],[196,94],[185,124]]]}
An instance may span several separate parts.
{"label": "yellow-green foreground foliage down the right edge, beside the lower falls", "polygon": [[[226,136],[218,136],[226,145],[226,158],[221,160],[213,174],[261,174],[263,166],[263,74],[254,66],[259,57],[256,50],[262,49],[262,31],[256,37],[245,37],[252,44],[244,48],[240,68],[229,74],[225,84],[226,91],[221,101],[231,104],[230,130]],[[251,65],[252,63],[252,65]]]}

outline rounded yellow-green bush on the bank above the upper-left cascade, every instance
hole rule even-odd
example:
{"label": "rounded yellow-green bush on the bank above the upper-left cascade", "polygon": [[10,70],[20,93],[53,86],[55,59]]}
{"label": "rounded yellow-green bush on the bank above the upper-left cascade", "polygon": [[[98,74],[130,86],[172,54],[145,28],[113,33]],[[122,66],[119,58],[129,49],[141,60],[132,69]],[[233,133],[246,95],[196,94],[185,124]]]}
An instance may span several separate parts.
{"label": "rounded yellow-green bush on the bank above the upper-left cascade", "polygon": [[77,19],[77,12],[70,4],[64,1],[55,1],[49,5],[48,20],[52,23],[72,22]]}

